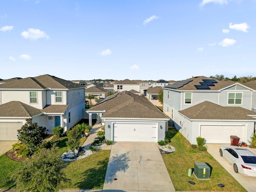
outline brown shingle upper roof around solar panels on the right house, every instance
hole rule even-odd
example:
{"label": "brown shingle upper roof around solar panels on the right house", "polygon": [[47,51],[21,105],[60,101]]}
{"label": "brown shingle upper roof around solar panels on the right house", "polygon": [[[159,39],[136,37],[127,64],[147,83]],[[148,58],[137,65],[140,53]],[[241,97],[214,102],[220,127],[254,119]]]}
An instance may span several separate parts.
{"label": "brown shingle upper roof around solar panels on the right house", "polygon": [[[188,82],[184,86],[181,86],[181,87],[177,88],[176,90],[198,90],[196,88],[196,86],[200,86],[201,85],[200,82],[202,83],[202,82],[204,82],[203,80],[206,80],[206,79],[213,80],[212,78],[209,78],[209,77],[198,76],[198,77],[189,78],[187,80],[177,81],[174,84],[165,86],[165,88],[172,88],[172,87],[175,87],[176,85],[177,85],[177,87],[179,87],[180,82],[191,80],[190,82]],[[230,86],[230,85],[236,83],[236,82],[233,82],[233,81],[220,81],[220,80],[216,80],[216,79],[215,79],[215,81],[217,83],[214,83],[214,86],[209,86],[208,88],[210,88],[210,89],[208,89],[208,90],[220,90],[222,88],[225,88],[227,86]]]}

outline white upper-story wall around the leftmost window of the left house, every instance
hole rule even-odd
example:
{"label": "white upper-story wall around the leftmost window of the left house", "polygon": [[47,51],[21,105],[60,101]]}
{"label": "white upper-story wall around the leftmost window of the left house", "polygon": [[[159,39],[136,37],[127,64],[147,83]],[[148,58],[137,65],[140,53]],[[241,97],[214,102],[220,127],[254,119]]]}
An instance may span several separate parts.
{"label": "white upper-story wall around the leftmost window of the left house", "polygon": [[[34,91],[34,90],[31,90]],[[43,103],[42,103],[42,91],[35,90],[37,92],[37,103],[31,103],[30,104],[30,95],[27,90],[4,90],[1,91],[1,96],[2,96],[2,103],[5,104],[11,101],[20,101],[22,103],[28,104],[34,108],[42,109]]]}

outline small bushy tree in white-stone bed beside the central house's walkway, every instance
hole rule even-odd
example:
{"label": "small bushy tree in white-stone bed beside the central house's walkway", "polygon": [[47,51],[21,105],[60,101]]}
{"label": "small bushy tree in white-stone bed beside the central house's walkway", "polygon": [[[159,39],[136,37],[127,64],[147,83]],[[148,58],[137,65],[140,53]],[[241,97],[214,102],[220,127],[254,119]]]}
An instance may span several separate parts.
{"label": "small bushy tree in white-stone bed beside the central house's walkway", "polygon": [[66,144],[69,146],[72,152],[75,152],[75,150],[78,149],[80,145],[81,130],[78,128],[78,126],[75,126],[71,130],[68,130],[66,133],[68,136]]}

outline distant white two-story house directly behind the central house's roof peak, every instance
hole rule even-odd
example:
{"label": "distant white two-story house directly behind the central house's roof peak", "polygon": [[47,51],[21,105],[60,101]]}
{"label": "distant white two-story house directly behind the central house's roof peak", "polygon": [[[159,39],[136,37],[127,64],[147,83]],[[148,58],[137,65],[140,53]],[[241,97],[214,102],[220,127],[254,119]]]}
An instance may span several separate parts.
{"label": "distant white two-story house directly behind the central house's roof peak", "polygon": [[140,84],[129,79],[116,82],[113,85],[114,85],[114,91],[122,92],[122,91],[130,91],[133,89],[140,92]]}

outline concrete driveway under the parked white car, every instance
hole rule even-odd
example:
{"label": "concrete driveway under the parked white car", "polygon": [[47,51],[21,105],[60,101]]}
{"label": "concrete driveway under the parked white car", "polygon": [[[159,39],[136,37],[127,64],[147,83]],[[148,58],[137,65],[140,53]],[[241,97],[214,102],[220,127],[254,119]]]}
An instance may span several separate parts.
{"label": "concrete driveway under the parked white car", "polygon": [[[214,157],[214,159],[216,159],[248,192],[256,191],[256,177],[244,176],[242,174],[235,173],[233,166],[228,162],[228,160],[220,156],[220,145],[207,144],[207,147],[207,151]],[[249,147],[247,147],[247,149],[256,154],[256,149],[251,149]]]}

